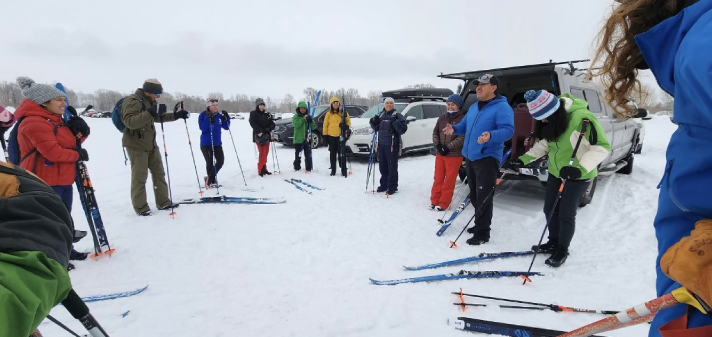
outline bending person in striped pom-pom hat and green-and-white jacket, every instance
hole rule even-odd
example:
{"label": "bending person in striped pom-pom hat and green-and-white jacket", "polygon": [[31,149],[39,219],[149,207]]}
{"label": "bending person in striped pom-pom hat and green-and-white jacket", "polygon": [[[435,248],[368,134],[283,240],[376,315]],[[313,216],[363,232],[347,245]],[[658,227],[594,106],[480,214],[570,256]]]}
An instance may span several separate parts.
{"label": "bending person in striped pom-pom hat and green-and-white jacket", "polygon": [[[529,152],[512,160],[511,167],[521,168],[545,155],[549,156],[549,178],[544,199],[544,214],[547,217],[556,203],[559,187],[565,181],[561,198],[549,221],[549,242],[532,247],[532,250],[541,253],[551,253],[546,264],[559,267],[569,255],[578,206],[591,179],[598,175],[596,168],[608,156],[611,145],[596,116],[586,108],[586,101],[570,94],[557,98],[546,90],[529,90],[524,97],[529,113],[537,120],[534,131],[537,142]],[[581,138],[585,121],[590,125],[587,125],[585,137]],[[581,143],[574,163],[569,165],[579,138]],[[556,150],[550,151],[551,148]]]}

